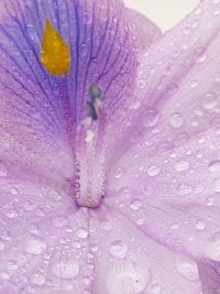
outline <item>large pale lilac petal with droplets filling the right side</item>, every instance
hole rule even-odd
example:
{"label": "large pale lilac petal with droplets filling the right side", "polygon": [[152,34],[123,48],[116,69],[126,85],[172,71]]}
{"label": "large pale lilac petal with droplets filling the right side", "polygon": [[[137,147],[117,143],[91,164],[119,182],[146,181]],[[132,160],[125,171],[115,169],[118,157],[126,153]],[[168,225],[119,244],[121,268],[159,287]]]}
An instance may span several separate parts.
{"label": "large pale lilac petal with droplets filling the right side", "polygon": [[[116,134],[106,197],[147,237],[194,257],[201,273],[215,263],[217,277],[219,13],[219,1],[202,1],[145,55],[133,117]],[[216,281],[202,275],[204,287],[218,288]]]}

